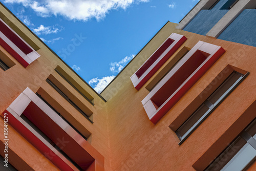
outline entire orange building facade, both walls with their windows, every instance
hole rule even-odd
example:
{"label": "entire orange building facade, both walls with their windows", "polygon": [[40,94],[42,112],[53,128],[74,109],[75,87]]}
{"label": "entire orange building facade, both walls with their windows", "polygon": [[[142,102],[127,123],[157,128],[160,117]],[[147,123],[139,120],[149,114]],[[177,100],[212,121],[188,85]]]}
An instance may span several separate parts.
{"label": "entire orange building facade, both walls with their windows", "polygon": [[185,31],[221,3],[244,2],[167,22],[100,95],[1,5],[1,170],[256,170],[256,48]]}

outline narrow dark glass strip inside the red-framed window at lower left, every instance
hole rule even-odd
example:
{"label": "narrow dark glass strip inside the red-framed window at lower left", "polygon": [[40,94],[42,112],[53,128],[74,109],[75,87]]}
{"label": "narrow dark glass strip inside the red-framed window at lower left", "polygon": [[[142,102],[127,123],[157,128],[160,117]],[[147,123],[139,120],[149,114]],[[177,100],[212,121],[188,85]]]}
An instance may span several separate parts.
{"label": "narrow dark glass strip inside the red-framed window at lower left", "polygon": [[72,158],[70,158],[62,149],[57,146],[45,133],[38,129],[38,127],[31,122],[24,114],[20,115],[20,117],[26,121],[38,134],[40,134],[47,142],[49,142],[59,153],[61,153],[65,158],[67,158],[76,168],[79,170],[83,170]]}

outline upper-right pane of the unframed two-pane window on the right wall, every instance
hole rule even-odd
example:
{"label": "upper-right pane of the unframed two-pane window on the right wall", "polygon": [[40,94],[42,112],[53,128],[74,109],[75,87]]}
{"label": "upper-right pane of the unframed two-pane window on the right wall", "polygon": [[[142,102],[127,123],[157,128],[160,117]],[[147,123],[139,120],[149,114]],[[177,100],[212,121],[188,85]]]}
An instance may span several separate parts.
{"label": "upper-right pane of the unframed two-pane window on the right wall", "polygon": [[233,72],[227,80],[208,98],[212,104],[217,105],[236,84],[243,78],[243,76]]}

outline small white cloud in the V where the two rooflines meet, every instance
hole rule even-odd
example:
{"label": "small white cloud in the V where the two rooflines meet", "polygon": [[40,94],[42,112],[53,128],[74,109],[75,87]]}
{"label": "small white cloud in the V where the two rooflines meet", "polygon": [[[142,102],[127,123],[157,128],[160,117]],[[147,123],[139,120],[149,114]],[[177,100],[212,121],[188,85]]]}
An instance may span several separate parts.
{"label": "small white cloud in the V where the two rooflines meet", "polygon": [[114,75],[106,76],[102,78],[93,78],[89,81],[90,86],[94,88],[94,90],[100,93],[108,84],[115,78]]}

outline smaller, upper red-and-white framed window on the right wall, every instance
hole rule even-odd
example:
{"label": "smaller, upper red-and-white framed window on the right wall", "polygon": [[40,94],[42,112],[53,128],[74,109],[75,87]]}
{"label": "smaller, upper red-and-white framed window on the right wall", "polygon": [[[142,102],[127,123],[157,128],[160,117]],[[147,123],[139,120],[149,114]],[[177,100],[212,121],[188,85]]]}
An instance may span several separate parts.
{"label": "smaller, upper red-and-white framed window on the right wall", "polygon": [[136,90],[139,90],[157,70],[172,56],[187,38],[173,33],[163,44],[143,63],[143,65],[131,76]]}

